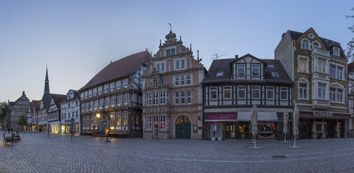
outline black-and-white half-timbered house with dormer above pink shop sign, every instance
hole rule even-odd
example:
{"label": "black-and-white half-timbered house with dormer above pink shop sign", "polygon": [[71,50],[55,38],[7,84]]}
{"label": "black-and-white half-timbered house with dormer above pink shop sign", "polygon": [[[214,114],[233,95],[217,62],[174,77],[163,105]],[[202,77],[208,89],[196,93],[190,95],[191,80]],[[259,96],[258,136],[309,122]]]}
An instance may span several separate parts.
{"label": "black-and-white half-timbered house with dormer above pink shop sign", "polygon": [[[278,60],[251,54],[214,60],[203,80],[203,140],[252,138],[254,104],[259,116],[257,137],[284,139],[283,113],[292,112],[292,84]],[[289,128],[288,139],[290,132]]]}

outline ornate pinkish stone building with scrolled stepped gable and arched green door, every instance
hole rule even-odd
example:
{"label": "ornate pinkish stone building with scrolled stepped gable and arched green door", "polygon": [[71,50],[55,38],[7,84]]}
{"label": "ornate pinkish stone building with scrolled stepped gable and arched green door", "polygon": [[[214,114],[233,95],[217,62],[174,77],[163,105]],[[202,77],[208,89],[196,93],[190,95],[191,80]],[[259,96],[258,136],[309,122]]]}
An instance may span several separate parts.
{"label": "ornate pinkish stone building with scrolled stepped gable and arched green door", "polygon": [[168,33],[144,75],[143,118],[145,139],[201,139],[205,68],[199,57]]}

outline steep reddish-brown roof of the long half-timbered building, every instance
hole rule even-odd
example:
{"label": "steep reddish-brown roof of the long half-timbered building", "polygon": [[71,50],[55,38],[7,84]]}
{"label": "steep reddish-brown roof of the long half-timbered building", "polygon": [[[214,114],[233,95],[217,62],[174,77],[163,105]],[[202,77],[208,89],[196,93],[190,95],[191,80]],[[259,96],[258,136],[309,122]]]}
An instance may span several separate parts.
{"label": "steep reddish-brown roof of the long half-timbered building", "polygon": [[146,65],[151,59],[151,54],[147,51],[132,54],[123,59],[119,59],[103,68],[95,77],[93,77],[79,91],[94,87],[97,84],[109,82],[120,77],[125,77],[135,73],[140,66]]}

